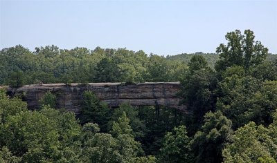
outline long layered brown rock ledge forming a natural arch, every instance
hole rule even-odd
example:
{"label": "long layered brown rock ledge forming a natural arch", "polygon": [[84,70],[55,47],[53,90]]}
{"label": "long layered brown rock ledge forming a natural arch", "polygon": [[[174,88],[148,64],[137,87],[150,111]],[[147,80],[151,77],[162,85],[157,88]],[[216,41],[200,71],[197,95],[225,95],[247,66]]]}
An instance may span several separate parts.
{"label": "long layered brown rock ledge forming a natural arch", "polygon": [[179,82],[165,83],[89,83],[89,84],[43,84],[26,85],[20,88],[7,88],[8,95],[23,94],[28,108],[39,107],[47,90],[57,96],[57,107],[67,111],[80,111],[82,93],[91,90],[96,96],[106,102],[111,108],[127,102],[132,106],[168,106],[186,111],[186,106],[179,106],[180,97],[177,93],[181,89]]}

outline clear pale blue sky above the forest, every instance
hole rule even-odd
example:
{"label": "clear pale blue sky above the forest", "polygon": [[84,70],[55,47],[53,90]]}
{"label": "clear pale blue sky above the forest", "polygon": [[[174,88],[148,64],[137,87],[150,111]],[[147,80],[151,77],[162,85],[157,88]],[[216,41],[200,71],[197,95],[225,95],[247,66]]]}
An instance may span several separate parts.
{"label": "clear pale blue sky above the forest", "polygon": [[157,55],[215,52],[226,32],[251,29],[277,53],[277,1],[0,1],[0,49],[54,44]]}

